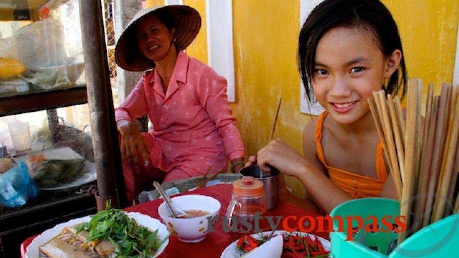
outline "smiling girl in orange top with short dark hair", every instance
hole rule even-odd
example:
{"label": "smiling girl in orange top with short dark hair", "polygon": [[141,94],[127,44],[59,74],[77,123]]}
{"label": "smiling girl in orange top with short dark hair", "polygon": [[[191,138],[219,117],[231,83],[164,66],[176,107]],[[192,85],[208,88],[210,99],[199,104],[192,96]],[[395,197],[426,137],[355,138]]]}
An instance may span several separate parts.
{"label": "smiling girl in orange top with short dark hair", "polygon": [[304,128],[304,156],[276,139],[249,163],[297,177],[327,213],[353,198],[395,199],[367,102],[381,89],[405,93],[402,44],[388,9],[379,0],[325,0],[303,25],[298,60],[308,97],[326,111]]}

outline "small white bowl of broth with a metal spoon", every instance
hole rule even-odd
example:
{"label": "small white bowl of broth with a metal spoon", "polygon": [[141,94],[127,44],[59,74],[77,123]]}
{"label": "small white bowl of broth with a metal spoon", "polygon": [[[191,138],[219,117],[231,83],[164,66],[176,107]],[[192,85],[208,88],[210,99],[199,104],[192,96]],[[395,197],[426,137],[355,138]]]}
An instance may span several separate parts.
{"label": "small white bowl of broth with a metal spoon", "polygon": [[[163,203],[158,207],[158,213],[166,224],[167,229],[173,235],[186,243],[196,243],[202,241],[213,227],[220,213],[220,202],[206,195],[182,195],[171,199],[172,203],[182,211],[202,210],[210,214],[194,218],[173,218],[167,204]],[[212,223],[209,221],[212,219]],[[209,225],[211,224],[211,225]]]}

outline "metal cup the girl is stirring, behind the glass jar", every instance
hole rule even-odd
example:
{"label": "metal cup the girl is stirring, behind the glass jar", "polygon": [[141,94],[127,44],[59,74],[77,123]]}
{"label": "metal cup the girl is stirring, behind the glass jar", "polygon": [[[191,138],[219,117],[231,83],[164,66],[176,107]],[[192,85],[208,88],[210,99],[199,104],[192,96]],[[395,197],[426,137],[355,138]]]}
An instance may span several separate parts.
{"label": "metal cup the girl is stirring, behind the glass jar", "polygon": [[[269,165],[268,165],[269,166]],[[249,166],[241,169],[239,174],[241,176],[252,176],[255,179],[263,182],[263,189],[265,190],[266,209],[271,210],[277,207],[279,203],[279,170],[273,166],[271,173],[263,172],[263,177],[260,177],[261,169],[258,165]]]}

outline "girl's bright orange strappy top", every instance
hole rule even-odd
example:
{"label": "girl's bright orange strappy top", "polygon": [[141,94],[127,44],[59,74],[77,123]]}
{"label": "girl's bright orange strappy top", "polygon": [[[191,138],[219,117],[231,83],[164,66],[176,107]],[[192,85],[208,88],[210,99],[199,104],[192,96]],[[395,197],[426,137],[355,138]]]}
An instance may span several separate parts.
{"label": "girl's bright orange strappy top", "polygon": [[366,177],[363,175],[331,167],[325,161],[325,156],[322,150],[321,143],[323,123],[325,116],[327,116],[327,114],[328,112],[325,111],[322,114],[320,114],[319,118],[317,119],[315,129],[315,140],[317,156],[319,157],[319,160],[322,162],[322,164],[324,164],[324,166],[327,168],[330,180],[335,185],[346,191],[346,193],[348,193],[353,198],[380,196],[381,189],[383,188],[388,175],[386,165],[384,163],[383,145],[381,141],[378,143],[375,159],[376,174],[378,178]]}

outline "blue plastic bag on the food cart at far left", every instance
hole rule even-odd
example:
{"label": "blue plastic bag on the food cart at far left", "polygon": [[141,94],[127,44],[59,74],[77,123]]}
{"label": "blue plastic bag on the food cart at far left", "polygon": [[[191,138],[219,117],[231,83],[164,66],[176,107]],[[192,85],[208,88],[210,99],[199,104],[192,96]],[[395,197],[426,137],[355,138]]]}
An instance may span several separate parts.
{"label": "blue plastic bag on the food cart at far left", "polygon": [[0,176],[0,202],[8,208],[23,206],[29,197],[38,194],[37,187],[28,175],[23,161]]}

